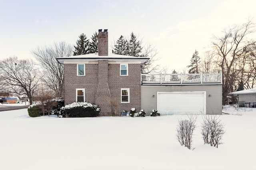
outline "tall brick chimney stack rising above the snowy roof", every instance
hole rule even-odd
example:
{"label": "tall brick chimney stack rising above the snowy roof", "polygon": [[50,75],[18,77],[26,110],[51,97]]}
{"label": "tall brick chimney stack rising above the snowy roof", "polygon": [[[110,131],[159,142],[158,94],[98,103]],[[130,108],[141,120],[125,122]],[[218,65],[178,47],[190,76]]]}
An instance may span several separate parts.
{"label": "tall brick chimney stack rising above the snowy roof", "polygon": [[99,29],[98,33],[98,53],[99,56],[108,56],[108,29]]}

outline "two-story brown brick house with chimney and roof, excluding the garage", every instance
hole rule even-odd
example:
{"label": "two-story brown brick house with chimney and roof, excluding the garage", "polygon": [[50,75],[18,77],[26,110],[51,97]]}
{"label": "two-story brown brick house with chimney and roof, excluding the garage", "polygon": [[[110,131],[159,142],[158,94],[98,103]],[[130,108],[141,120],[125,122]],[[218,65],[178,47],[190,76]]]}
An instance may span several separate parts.
{"label": "two-story brown brick house with chimney and roof, excluding the garage", "polygon": [[98,33],[98,53],[57,58],[64,65],[65,105],[97,104],[101,113],[111,113],[110,99],[118,111],[140,108],[140,64],[148,58],[108,54],[108,32]]}

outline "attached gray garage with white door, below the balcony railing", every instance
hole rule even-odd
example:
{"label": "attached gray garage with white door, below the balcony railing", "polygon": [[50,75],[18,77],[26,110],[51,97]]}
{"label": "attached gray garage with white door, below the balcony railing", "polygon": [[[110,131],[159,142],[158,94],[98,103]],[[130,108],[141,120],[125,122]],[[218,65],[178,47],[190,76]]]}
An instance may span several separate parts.
{"label": "attached gray garage with white door, below the balcony railing", "polygon": [[150,115],[222,114],[222,85],[142,85],[141,109]]}

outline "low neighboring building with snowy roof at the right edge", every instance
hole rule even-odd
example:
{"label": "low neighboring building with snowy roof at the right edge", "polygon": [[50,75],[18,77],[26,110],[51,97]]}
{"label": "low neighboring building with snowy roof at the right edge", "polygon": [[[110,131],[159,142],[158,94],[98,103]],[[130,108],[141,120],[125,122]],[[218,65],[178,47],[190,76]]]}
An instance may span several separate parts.
{"label": "low neighboring building with snowy roof at the right edge", "polygon": [[256,88],[240,90],[230,94],[238,96],[238,102],[250,102],[250,104],[256,103]]}

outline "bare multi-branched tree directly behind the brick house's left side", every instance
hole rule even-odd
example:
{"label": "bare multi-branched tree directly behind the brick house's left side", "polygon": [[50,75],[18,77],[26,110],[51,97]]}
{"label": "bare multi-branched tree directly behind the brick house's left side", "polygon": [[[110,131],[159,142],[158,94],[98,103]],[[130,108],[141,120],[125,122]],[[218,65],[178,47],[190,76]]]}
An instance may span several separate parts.
{"label": "bare multi-branched tree directly behind the brick house's left side", "polygon": [[56,58],[72,56],[72,45],[65,42],[54,43],[52,47],[38,47],[32,50],[32,54],[43,69],[42,81],[44,84],[55,92],[56,97],[63,97],[64,68]]}

